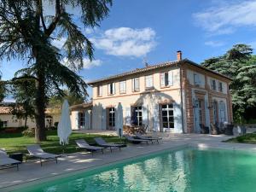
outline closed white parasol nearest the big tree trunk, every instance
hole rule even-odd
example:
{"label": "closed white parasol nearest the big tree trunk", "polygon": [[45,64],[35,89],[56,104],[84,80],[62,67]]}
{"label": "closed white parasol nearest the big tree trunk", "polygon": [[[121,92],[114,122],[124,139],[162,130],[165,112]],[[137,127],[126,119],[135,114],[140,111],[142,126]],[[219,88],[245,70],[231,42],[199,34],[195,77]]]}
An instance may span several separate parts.
{"label": "closed white parasol nearest the big tree trunk", "polygon": [[69,116],[69,105],[67,100],[63,102],[61,110],[61,120],[58,124],[58,137],[61,145],[68,144],[68,137],[72,133],[71,121]]}

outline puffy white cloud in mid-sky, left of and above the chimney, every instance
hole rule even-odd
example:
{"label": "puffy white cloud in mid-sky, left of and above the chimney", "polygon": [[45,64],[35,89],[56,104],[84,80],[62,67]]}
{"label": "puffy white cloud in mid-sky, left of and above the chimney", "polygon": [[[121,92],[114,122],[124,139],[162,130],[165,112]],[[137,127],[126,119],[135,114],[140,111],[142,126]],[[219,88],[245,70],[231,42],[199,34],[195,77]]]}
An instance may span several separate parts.
{"label": "puffy white cloud in mid-sky, left of and above the chimney", "polygon": [[119,27],[108,29],[101,37],[90,40],[97,49],[103,49],[108,55],[141,57],[154,49],[154,38],[155,32],[151,28]]}

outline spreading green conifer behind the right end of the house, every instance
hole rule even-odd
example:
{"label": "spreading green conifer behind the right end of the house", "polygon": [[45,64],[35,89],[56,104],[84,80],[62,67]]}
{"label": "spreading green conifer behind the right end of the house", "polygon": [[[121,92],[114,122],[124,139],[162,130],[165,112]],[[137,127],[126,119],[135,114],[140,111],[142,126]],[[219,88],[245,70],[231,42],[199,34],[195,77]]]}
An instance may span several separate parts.
{"label": "spreading green conifer behind the right end of the house", "polygon": [[224,55],[207,59],[204,67],[222,73],[232,79],[230,92],[236,119],[245,117],[249,108],[256,106],[256,56],[246,44],[236,44]]}

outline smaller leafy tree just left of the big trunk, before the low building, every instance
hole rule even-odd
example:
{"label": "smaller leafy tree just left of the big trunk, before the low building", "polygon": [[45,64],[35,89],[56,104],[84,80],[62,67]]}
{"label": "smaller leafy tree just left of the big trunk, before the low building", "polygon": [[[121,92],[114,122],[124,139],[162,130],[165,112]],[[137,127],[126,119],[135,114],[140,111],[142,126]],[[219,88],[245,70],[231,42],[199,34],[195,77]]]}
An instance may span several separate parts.
{"label": "smaller leafy tree just left of the big trunk, before the low building", "polygon": [[34,97],[36,93],[35,80],[26,79],[26,77],[30,77],[30,75],[24,74],[22,79],[13,79],[10,90],[15,99],[12,114],[17,119],[25,119],[24,127],[26,127],[28,118],[34,119],[35,117]]}

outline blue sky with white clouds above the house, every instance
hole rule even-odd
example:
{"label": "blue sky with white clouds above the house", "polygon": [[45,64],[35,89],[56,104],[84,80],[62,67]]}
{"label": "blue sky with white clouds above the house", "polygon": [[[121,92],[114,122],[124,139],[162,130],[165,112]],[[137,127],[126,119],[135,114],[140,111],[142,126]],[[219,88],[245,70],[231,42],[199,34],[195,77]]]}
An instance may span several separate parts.
{"label": "blue sky with white clouds above the house", "polygon": [[[177,50],[183,51],[183,58],[201,63],[233,44],[254,48],[256,1],[113,1],[100,27],[81,28],[95,44],[95,61],[84,58],[79,72],[90,81],[143,67],[143,59],[149,64],[176,60]],[[61,46],[64,40],[53,44]],[[10,79],[26,61],[0,64],[3,79]]]}

